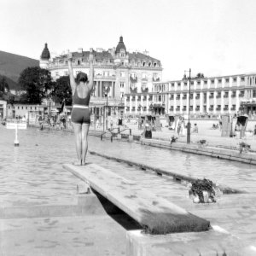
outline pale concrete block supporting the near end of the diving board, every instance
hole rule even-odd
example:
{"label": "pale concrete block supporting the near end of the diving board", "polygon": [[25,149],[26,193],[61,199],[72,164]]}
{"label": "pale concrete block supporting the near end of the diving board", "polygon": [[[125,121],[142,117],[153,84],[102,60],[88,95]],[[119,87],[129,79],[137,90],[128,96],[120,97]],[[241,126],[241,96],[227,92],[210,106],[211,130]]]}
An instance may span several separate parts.
{"label": "pale concrete block supporting the near end of the diving board", "polygon": [[134,230],[126,236],[126,256],[253,256],[255,253],[256,247],[215,230],[166,236],[148,236]]}

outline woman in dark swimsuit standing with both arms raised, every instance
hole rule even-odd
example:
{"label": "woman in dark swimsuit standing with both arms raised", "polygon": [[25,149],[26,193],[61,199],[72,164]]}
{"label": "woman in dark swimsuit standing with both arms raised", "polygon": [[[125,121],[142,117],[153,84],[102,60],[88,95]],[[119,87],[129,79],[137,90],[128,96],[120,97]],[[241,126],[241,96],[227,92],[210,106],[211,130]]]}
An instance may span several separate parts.
{"label": "woman in dark swimsuit standing with both arms raised", "polygon": [[93,53],[90,49],[89,63],[90,63],[90,78],[88,79],[86,73],[78,73],[77,78],[74,79],[72,67],[72,53],[67,54],[67,66],[69,71],[70,85],[73,94],[73,110],[71,113],[71,122],[75,134],[76,151],[78,161],[75,165],[84,166],[85,157],[88,149],[88,132],[90,127],[90,94],[93,88],[94,67],[93,67]]}

